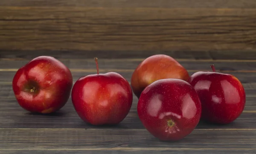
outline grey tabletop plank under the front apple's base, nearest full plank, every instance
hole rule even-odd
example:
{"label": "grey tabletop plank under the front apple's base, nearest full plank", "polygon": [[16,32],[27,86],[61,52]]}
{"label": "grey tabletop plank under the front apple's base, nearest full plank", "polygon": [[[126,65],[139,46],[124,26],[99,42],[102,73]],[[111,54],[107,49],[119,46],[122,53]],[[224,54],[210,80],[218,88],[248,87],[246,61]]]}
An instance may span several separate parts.
{"label": "grey tabletop plank under the front apple's base, nearest full plank", "polygon": [[172,150],[256,149],[254,130],[194,130],[178,142],[162,142],[145,129],[1,129],[5,150]]}

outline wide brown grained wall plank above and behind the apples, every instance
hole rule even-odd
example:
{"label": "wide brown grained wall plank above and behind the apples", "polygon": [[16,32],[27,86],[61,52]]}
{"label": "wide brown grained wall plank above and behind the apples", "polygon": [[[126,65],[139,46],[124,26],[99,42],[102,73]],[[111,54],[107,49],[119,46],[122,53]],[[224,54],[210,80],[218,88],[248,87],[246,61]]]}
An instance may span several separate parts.
{"label": "wide brown grained wall plank above and behind the apples", "polygon": [[2,6],[0,49],[255,51],[255,14],[255,8]]}

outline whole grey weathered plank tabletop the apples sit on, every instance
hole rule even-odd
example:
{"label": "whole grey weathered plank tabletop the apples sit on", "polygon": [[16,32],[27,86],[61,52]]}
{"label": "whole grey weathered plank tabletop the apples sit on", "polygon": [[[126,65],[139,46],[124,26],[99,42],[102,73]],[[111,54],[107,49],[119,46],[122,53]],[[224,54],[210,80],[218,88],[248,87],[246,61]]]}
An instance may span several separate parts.
{"label": "whole grey weathered plank tabletop the apples sit on", "polygon": [[[97,127],[84,123],[76,114],[71,99],[54,114],[26,112],[15,100],[12,78],[30,58],[27,55],[21,59],[0,59],[0,154],[256,153],[256,60],[177,59],[189,74],[210,71],[209,65],[215,64],[217,70],[235,75],[246,90],[246,107],[233,123],[200,122],[183,140],[162,142],[152,137],[140,122],[135,95],[128,116],[116,126]],[[93,59],[61,58],[72,71],[74,82],[81,76],[96,73]],[[143,59],[98,60],[102,73],[116,71],[130,81],[134,68]]]}

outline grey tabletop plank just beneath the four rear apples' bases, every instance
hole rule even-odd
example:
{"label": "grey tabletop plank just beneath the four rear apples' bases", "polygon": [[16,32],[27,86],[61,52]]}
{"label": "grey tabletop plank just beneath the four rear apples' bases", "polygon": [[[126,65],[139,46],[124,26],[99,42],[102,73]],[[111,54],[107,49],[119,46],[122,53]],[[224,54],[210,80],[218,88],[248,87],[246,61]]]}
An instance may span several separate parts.
{"label": "grey tabletop plank just beneath the four rear apples' bases", "polygon": [[[71,109],[71,108],[70,108]],[[254,107],[255,109],[255,107]],[[17,112],[16,112],[17,111]],[[51,115],[32,115],[29,112],[16,108],[16,111],[1,112],[0,128],[28,128],[28,129],[145,129],[137,112],[129,112],[127,117],[115,126],[92,126],[82,121],[71,111],[61,111]],[[18,117],[17,117],[18,116]],[[227,125],[215,125],[200,121],[196,129],[223,129],[241,130],[255,129],[256,113],[243,113],[233,123]]]}

